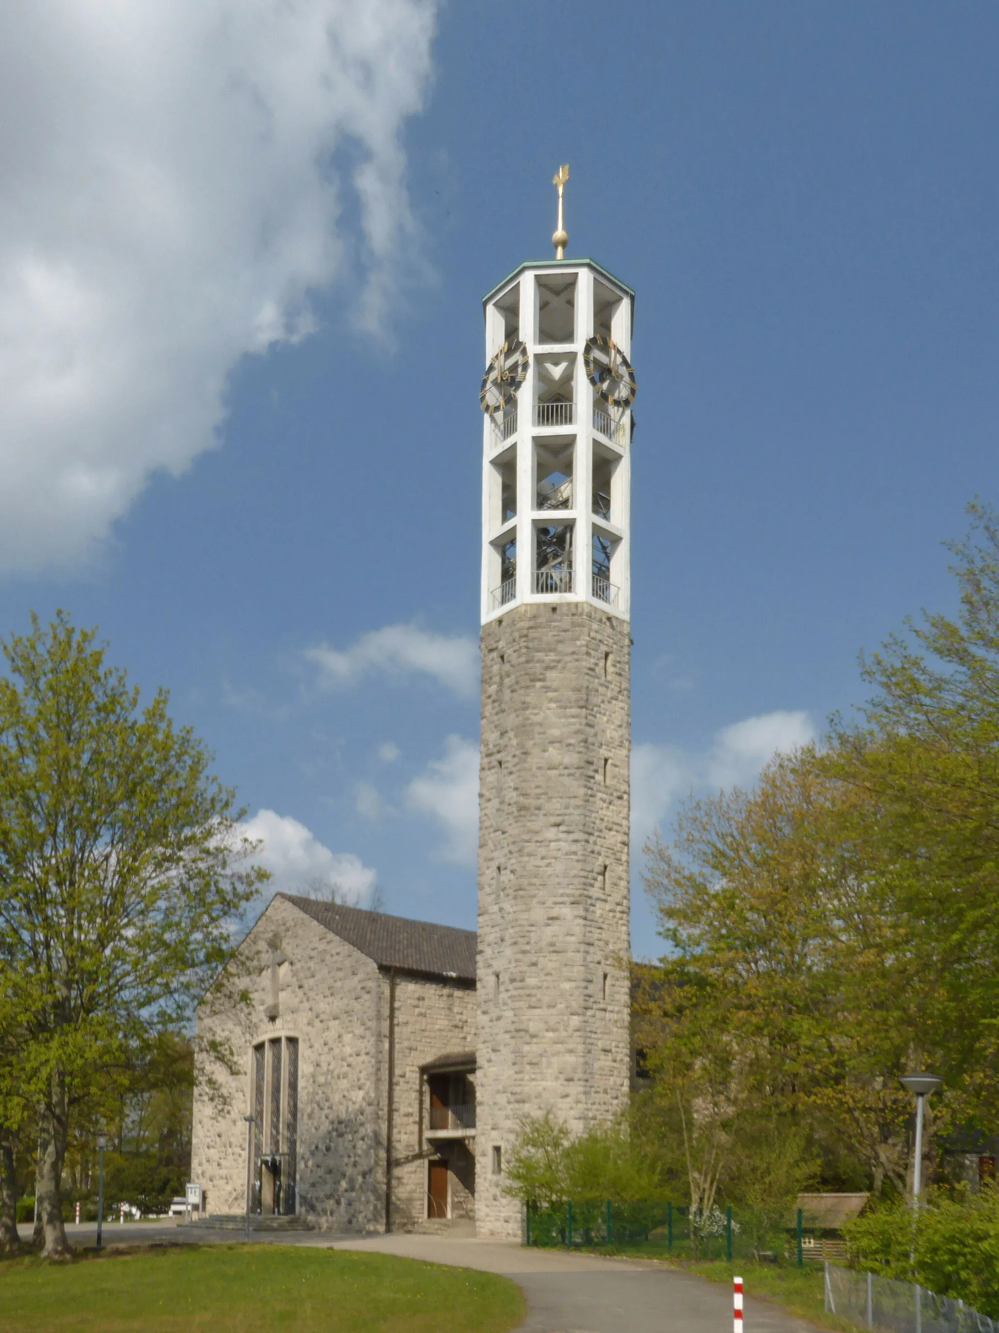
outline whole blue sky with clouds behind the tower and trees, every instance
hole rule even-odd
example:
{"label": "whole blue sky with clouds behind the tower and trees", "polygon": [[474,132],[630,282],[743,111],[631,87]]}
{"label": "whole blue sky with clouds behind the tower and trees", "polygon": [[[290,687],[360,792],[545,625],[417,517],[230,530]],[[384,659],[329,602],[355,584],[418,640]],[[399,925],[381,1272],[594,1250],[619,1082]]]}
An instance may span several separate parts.
{"label": "whole blue sky with clouds behind the tower and trees", "polygon": [[274,886],[474,925],[481,297],[569,161],[569,253],[637,292],[637,878],[954,604],[998,49],[911,0],[9,7],[0,628],[168,686]]}

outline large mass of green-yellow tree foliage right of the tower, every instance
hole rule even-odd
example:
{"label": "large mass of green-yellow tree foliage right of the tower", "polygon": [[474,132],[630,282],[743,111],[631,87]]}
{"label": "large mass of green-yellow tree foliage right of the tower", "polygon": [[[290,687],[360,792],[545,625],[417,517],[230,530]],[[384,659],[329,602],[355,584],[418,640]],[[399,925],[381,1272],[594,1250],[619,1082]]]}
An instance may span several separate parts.
{"label": "large mass of green-yellow tree foliage right of the tower", "polygon": [[946,1080],[927,1166],[943,1136],[999,1128],[994,516],[972,507],[952,551],[959,616],[863,663],[856,722],[778,756],[751,792],[690,802],[671,845],[646,849],[667,953],[638,976],[643,1098],[694,1206],[769,1188],[754,1153],[771,1193],[817,1164],[830,1184],[904,1193],[912,1069]]}

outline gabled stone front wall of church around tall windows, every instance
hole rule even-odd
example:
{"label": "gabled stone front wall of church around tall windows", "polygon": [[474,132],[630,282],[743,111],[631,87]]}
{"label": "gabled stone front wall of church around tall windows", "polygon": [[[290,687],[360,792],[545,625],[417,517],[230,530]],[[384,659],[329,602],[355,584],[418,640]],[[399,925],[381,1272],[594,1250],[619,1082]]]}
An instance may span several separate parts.
{"label": "gabled stone front wall of church around tall windows", "polygon": [[[270,1020],[269,940],[280,940],[280,1014]],[[250,1052],[278,1034],[298,1037],[298,1210],[324,1228],[381,1230],[384,1145],[378,1077],[381,980],[376,964],[298,908],[276,897],[244,941],[240,1005],[216,985],[202,1001],[197,1033],[229,1041],[238,1073],[200,1054],[202,1074],[217,1081],[224,1104],[204,1084],[194,1092],[192,1180],[205,1189],[210,1213],[241,1213],[246,1201],[246,1125]],[[382,1085],[382,1097],[378,1086]]]}

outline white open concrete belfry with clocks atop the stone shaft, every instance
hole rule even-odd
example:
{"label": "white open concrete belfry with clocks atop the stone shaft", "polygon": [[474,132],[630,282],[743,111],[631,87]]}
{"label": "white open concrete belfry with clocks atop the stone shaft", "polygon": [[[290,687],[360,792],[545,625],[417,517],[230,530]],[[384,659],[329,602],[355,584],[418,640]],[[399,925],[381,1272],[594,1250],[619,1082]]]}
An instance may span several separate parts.
{"label": "white open concrete belfry with clocks atop the stone shaft", "polygon": [[486,380],[507,371],[492,400],[484,384],[484,624],[550,597],[627,617],[631,409],[587,365],[606,367],[605,344],[630,357],[633,303],[591,260],[523,264],[486,297]]}

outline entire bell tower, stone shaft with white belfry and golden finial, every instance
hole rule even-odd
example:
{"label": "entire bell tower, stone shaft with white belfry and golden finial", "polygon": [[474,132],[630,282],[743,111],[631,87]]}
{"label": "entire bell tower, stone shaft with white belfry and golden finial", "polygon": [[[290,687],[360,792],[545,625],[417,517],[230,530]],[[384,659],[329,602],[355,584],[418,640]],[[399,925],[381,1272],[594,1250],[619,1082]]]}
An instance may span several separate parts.
{"label": "entire bell tower, stone shaft with white belfry and golden finial", "polygon": [[593,260],[485,297],[476,1216],[523,1117],[573,1133],[629,1089],[629,499],[634,293]]}

